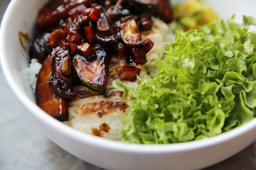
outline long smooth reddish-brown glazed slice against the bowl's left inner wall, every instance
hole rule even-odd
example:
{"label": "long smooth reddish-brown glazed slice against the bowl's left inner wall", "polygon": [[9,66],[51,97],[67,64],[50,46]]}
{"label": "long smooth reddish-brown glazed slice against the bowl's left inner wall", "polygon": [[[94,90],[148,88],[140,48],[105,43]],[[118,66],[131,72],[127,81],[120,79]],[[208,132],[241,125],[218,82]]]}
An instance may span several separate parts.
{"label": "long smooth reddish-brown glazed slice against the bowl's left inner wall", "polygon": [[48,85],[48,80],[52,72],[50,59],[51,55],[48,55],[38,73],[35,88],[36,103],[49,115],[60,121],[67,121],[69,116],[67,102],[57,96],[53,92],[52,87]]}

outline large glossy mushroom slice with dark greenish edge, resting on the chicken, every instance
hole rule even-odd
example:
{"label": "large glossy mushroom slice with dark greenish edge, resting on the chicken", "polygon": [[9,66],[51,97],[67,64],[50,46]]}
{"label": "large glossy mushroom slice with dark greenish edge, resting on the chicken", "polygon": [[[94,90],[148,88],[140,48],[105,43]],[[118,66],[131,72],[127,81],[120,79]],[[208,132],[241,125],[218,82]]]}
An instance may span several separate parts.
{"label": "large glossy mushroom slice with dark greenish edge, resting on the chicken", "polygon": [[73,58],[73,69],[83,85],[93,91],[105,93],[108,53],[99,46],[94,46],[93,51],[96,53],[96,59],[93,61],[88,61],[85,57],[77,54]]}

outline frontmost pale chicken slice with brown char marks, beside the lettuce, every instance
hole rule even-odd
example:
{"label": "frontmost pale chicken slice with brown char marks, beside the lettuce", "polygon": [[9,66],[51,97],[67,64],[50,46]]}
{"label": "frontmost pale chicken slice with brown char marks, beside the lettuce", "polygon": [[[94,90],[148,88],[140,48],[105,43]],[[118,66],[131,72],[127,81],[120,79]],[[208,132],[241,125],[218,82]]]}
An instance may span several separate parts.
{"label": "frontmost pale chicken slice with brown char marks, beside the lettuce", "polygon": [[[119,140],[122,119],[129,107],[126,101],[101,101],[69,107],[70,120],[66,122],[76,129],[107,139]],[[105,126],[107,130],[104,130]]]}

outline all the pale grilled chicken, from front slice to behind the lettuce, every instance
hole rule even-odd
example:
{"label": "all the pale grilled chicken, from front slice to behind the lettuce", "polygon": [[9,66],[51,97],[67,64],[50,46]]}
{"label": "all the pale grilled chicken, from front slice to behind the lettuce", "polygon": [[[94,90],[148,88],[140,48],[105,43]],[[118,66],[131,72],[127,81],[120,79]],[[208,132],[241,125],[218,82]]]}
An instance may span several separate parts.
{"label": "all the pale grilled chicken, from front slice to behind the lettuce", "polygon": [[[137,65],[142,68],[139,77],[150,78],[148,73],[154,72],[155,60],[162,57],[164,38],[168,32],[166,23],[153,19],[151,30],[141,32],[143,40],[150,38],[154,47],[147,54],[148,62],[145,65]],[[122,119],[126,116],[130,100],[122,99],[123,92],[113,88],[113,80],[119,79],[121,68],[128,65],[125,59],[118,56],[111,57],[108,66],[108,85],[106,94],[98,94],[84,86],[77,86],[78,97],[69,103],[69,121],[65,124],[106,139],[119,140],[119,130],[124,126]],[[138,80],[137,80],[138,81]],[[139,82],[123,81],[125,85],[136,86]]]}

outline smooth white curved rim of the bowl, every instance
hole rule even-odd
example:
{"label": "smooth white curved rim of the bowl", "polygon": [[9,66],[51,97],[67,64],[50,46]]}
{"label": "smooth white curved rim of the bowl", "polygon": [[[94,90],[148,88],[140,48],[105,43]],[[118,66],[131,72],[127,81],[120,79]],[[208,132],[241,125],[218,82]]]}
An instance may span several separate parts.
{"label": "smooth white curved rim of the bowl", "polygon": [[188,150],[196,150],[204,147],[209,147],[212,145],[217,145],[223,142],[227,142],[240,136],[243,133],[246,133],[250,130],[256,128],[256,119],[247,122],[240,127],[236,127],[233,130],[228,132],[221,133],[217,136],[212,136],[207,139],[201,139],[198,141],[190,141],[183,143],[175,144],[128,144],[118,141],[112,141],[97,136],[92,136],[87,133],[83,133],[79,130],[76,130],[73,127],[69,127],[64,123],[58,121],[57,119],[49,116],[46,112],[41,110],[31,99],[29,99],[26,94],[24,94],[19,86],[15,83],[15,77],[12,75],[12,68],[8,66],[8,50],[5,47],[4,40],[8,38],[8,23],[9,20],[12,20],[10,14],[12,13],[13,8],[15,8],[17,1],[12,0],[9,3],[9,6],[6,9],[4,14],[1,29],[0,29],[0,62],[3,70],[3,74],[11,87],[12,91],[15,93],[15,96],[20,100],[22,105],[31,113],[33,116],[40,119],[41,122],[47,124],[50,128],[56,129],[58,132],[62,133],[63,136],[70,136],[73,140],[79,141],[83,144],[90,144],[100,147],[102,149],[111,149],[113,151],[126,152],[126,153],[175,153],[183,152]]}

